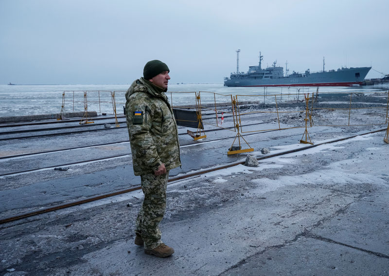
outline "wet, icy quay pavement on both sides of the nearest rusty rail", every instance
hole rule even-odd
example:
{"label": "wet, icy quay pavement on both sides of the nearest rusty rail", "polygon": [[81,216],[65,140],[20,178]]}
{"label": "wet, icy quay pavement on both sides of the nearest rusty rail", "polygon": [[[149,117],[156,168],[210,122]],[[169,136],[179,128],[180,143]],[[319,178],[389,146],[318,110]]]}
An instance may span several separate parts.
{"label": "wet, icy quay pavement on both sides of the nearest rusty rail", "polygon": [[[255,149],[250,154],[261,157],[262,147],[273,154],[308,146],[298,143],[302,132],[266,132],[245,139]],[[365,132],[317,127],[310,135],[319,143]],[[111,141],[109,136],[114,135],[120,140],[125,134],[104,132],[102,137]],[[207,140],[211,134],[216,135],[207,133]],[[230,134],[217,131],[220,137]],[[163,241],[176,252],[166,259],[145,255],[133,244],[140,191],[2,224],[0,274],[389,275],[389,150],[383,136],[383,131],[357,136],[261,160],[255,168],[238,165],[169,184],[161,230]],[[85,143],[85,137],[79,142]],[[89,136],[88,143],[99,138]],[[197,144],[189,135],[180,136],[183,166],[172,170],[171,176],[244,160],[246,154],[227,155],[232,140]],[[42,142],[42,147],[53,145],[50,139]],[[4,148],[11,150],[15,143]],[[38,141],[19,145],[23,143],[40,147]],[[52,159],[37,155],[22,162],[47,166],[79,160],[86,152],[104,156],[127,150],[124,143],[74,150],[69,156],[58,153]],[[0,181],[1,215],[7,216],[128,188],[139,178],[133,176],[128,155]]]}

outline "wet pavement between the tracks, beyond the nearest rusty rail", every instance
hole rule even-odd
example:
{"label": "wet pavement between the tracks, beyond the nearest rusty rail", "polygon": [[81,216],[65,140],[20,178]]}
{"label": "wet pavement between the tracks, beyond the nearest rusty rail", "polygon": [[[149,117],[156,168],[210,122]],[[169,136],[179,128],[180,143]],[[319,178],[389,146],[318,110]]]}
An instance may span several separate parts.
{"label": "wet pavement between the tracks, beyond the nearest rusty rail", "polygon": [[[180,128],[180,133],[184,133],[186,128]],[[312,137],[328,137],[329,128],[317,128],[316,134]],[[249,146],[255,149],[256,156],[264,156],[260,150],[263,147],[274,149],[275,146],[288,145],[291,141],[297,142],[301,139],[303,129],[288,130],[287,135],[280,136],[283,131],[256,133],[245,136]],[[95,135],[98,134],[98,135]],[[128,133],[125,129],[103,131],[93,133],[87,141],[121,141]],[[193,141],[189,135],[180,135],[180,155],[182,166],[170,171],[170,178],[203,170],[211,167],[225,165],[231,162],[243,162],[246,154],[227,155],[228,149],[232,145],[236,132],[230,130],[207,131],[207,138]],[[83,146],[87,134],[68,137],[66,146]],[[331,134],[333,135],[333,134]],[[230,137],[229,139],[213,140]],[[39,138],[36,141],[29,139],[18,140],[18,145],[30,145],[29,152],[38,152],[40,149],[56,151],[44,154],[32,154],[29,156],[15,157],[0,160],[1,174],[20,172],[28,169],[45,168],[33,172],[16,173],[10,176],[0,177],[0,184],[3,187],[0,191],[0,213],[1,218],[11,217],[20,212],[34,211],[45,206],[53,206],[69,201],[83,199],[86,197],[107,194],[119,190],[138,186],[140,177],[134,176],[129,142],[119,144],[93,146],[88,144],[81,148],[71,150],[60,150],[55,147],[53,141],[58,137]],[[323,139],[323,138],[322,138]],[[43,144],[40,141],[43,140]],[[128,140],[128,138],[127,138]],[[202,143],[205,142],[205,143]],[[246,142],[241,138],[242,148],[248,148]],[[101,142],[100,142],[101,143]],[[96,143],[98,144],[98,143]],[[11,144],[15,146],[15,141]],[[238,140],[234,146],[237,146]],[[308,146],[300,144],[301,146]],[[5,146],[4,146],[5,148]],[[10,145],[8,145],[10,148]],[[119,155],[112,158],[111,156]],[[103,159],[97,161],[90,161]],[[75,163],[75,164],[74,164]],[[55,168],[65,168],[66,171],[54,170]]]}

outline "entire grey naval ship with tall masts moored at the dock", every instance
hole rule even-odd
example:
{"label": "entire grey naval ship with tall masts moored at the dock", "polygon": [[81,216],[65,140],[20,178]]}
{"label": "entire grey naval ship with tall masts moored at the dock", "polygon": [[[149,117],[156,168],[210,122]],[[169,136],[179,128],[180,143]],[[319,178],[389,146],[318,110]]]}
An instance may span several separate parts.
{"label": "entire grey naval ship with tall masts moored at the dock", "polygon": [[[239,72],[239,52],[237,50],[237,73],[231,73],[230,78],[224,78],[224,86],[354,86],[364,81],[371,67],[339,68],[311,73],[309,69],[304,74],[293,71],[290,75],[283,75],[283,67],[276,66],[262,69],[263,56],[259,52],[259,65],[249,66],[248,72]],[[286,69],[286,72],[288,70]]]}

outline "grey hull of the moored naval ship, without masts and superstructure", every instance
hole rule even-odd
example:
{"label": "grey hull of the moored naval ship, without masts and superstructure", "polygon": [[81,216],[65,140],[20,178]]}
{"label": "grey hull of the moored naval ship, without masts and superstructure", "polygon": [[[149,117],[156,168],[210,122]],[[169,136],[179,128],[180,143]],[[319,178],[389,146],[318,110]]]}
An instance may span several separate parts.
{"label": "grey hull of the moored naval ship, without masts and superstructure", "polygon": [[371,67],[342,68],[311,73],[301,77],[258,79],[254,75],[232,75],[224,81],[225,86],[354,86],[364,81]]}

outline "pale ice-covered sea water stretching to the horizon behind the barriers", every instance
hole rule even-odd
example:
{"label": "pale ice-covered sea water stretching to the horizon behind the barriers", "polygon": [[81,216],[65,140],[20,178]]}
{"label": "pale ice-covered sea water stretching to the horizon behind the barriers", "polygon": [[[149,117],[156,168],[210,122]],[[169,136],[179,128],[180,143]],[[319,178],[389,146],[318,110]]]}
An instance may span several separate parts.
{"label": "pale ice-covered sea water stretching to the horizon behind the barriers", "polygon": [[[79,84],[79,85],[0,85],[0,117],[35,114],[59,113],[64,103],[64,111],[88,111],[113,113],[113,100],[118,114],[123,114],[125,91],[130,84]],[[223,83],[169,83],[167,96],[173,106],[194,106],[196,93],[200,92],[201,104],[231,102],[236,95],[244,100],[265,100],[264,95],[282,95],[286,98],[296,94],[303,99],[303,94],[316,92],[316,87],[226,87]],[[319,92],[372,92],[383,87],[319,87]],[[386,88],[388,89],[388,88]],[[85,98],[87,91],[87,98]],[[172,93],[170,93],[172,92]],[[174,93],[173,93],[174,92]],[[180,92],[180,93],[177,93]],[[65,94],[65,97],[63,96]],[[266,98],[274,101],[274,97]],[[65,100],[63,102],[63,99]]]}

